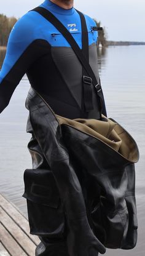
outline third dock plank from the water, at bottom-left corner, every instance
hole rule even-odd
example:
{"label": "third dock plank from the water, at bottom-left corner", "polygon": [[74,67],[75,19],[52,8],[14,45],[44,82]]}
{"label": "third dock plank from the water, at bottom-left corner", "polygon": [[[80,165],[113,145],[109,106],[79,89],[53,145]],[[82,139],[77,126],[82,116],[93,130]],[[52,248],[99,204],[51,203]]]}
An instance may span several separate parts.
{"label": "third dock plank from the water, at bottom-left corner", "polygon": [[[14,238],[9,234],[9,232],[2,226],[0,223],[0,240],[4,247],[7,248],[7,251],[12,256],[27,256],[22,248],[17,244]],[[33,255],[34,256],[34,255]]]}

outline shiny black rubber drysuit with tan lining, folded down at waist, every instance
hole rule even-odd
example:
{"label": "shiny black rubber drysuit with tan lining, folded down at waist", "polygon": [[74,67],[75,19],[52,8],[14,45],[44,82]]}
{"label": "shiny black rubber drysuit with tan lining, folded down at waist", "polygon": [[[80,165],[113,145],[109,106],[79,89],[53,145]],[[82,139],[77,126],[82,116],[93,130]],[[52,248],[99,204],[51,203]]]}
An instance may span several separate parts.
{"label": "shiny black rubber drysuit with tan lining, folded down at waist", "polygon": [[25,171],[24,196],[31,233],[42,240],[36,255],[92,256],[105,247],[135,247],[133,138],[104,116],[58,116],[32,88],[26,108],[33,169]]}

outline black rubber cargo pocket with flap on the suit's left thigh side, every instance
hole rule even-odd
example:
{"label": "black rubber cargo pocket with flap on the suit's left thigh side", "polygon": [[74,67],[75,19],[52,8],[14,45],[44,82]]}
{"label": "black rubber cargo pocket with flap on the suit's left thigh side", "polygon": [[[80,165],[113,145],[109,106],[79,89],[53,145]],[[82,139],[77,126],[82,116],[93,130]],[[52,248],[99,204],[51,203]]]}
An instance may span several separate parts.
{"label": "black rubber cargo pocket with flap on the suit's left thigh side", "polygon": [[26,169],[25,193],[30,233],[63,238],[65,219],[53,173],[48,169]]}

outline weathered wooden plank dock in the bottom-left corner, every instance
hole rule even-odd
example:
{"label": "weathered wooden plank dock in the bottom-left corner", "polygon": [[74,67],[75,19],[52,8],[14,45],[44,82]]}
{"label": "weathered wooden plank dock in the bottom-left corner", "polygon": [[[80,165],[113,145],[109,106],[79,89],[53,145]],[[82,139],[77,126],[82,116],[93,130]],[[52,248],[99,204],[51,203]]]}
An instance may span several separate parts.
{"label": "weathered wooden plank dock in the bottom-left corner", "polygon": [[0,256],[34,256],[39,242],[29,234],[28,220],[0,194]]}

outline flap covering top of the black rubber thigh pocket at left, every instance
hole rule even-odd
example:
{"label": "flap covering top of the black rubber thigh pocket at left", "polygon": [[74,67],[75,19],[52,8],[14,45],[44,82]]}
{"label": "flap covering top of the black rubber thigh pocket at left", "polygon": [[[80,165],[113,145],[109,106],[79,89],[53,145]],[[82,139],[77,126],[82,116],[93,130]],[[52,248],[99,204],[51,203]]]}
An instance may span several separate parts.
{"label": "flap covering top of the black rubber thigh pocket at left", "polygon": [[58,208],[60,195],[52,170],[26,169],[24,183],[24,198],[44,206]]}

